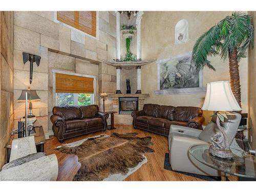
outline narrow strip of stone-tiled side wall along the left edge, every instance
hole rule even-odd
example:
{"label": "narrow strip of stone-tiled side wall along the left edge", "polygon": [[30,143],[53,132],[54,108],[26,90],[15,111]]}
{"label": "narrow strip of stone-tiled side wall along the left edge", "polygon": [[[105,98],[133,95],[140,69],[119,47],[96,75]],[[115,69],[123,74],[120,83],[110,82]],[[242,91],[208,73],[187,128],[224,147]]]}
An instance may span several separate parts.
{"label": "narrow strip of stone-tiled side wall along the left edge", "polygon": [[13,12],[0,12],[0,168],[13,129]]}

